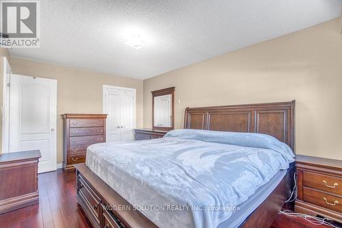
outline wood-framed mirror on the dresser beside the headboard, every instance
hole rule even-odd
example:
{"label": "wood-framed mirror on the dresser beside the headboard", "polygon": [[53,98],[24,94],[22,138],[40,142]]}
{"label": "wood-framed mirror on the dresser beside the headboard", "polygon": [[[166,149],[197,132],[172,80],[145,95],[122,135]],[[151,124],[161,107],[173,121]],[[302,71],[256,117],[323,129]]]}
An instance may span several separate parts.
{"label": "wood-framed mirror on the dresser beside the headboard", "polygon": [[152,91],[153,130],[174,129],[174,87]]}

